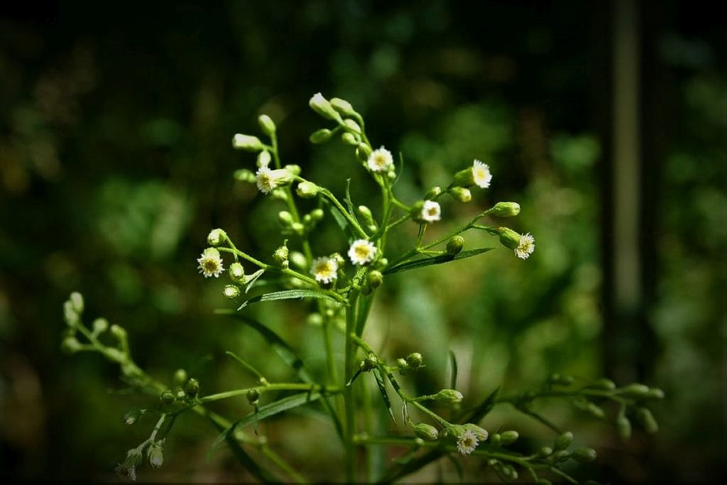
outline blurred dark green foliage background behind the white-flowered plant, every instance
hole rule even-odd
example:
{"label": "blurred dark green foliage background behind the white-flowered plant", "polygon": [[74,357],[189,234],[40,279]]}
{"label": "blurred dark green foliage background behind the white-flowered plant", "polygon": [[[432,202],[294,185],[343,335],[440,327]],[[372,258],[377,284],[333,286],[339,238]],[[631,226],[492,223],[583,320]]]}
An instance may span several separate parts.
{"label": "blurred dark green foliage background behind the white-flowered plant", "polygon": [[[121,424],[150,398],[125,390],[99,356],[60,351],[61,307],[84,294],[87,321],[124,326],[137,362],[169,382],[185,368],[203,393],[250,385],[233,350],[288,374],[254,332],[214,316],[224,281],[196,257],[209,229],[269,254],[279,202],[232,173],[257,116],[278,124],[284,159],[334,191],[371,183],[340,143],[315,150],[315,92],[364,114],[372,143],[401,151],[401,199],[446,185],[474,158],[491,189],[447,204],[465,219],[520,202],[513,228],[537,251],[387,278],[368,337],[428,362],[416,385],[443,387],[447,352],[478,399],[538,385],[550,372],[663,388],[661,430],[627,443],[566,406],[553,420],[600,457],[599,481],[716,481],[726,457],[726,25],[707,2],[181,1],[49,2],[0,7],[0,476],[113,481],[151,422]],[[341,174],[346,174],[342,176]],[[374,211],[376,205],[371,203]],[[444,231],[449,223],[443,223]],[[392,250],[406,249],[403,228]],[[327,225],[321,254],[344,244]],[[494,244],[472,236],[467,246]],[[497,244],[496,244],[497,245]],[[321,366],[305,303],[249,308]],[[230,417],[244,399],[220,404]],[[547,430],[507,411],[488,427]],[[321,476],[340,456],[329,426],[295,414],[265,433]],[[180,419],[147,481],[249,476],[215,433]],[[313,444],[313,446],[311,445]],[[333,458],[332,458],[333,457]],[[466,478],[478,481],[474,466]],[[318,475],[316,475],[318,473]],[[456,477],[448,463],[419,481]]]}

